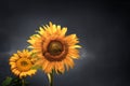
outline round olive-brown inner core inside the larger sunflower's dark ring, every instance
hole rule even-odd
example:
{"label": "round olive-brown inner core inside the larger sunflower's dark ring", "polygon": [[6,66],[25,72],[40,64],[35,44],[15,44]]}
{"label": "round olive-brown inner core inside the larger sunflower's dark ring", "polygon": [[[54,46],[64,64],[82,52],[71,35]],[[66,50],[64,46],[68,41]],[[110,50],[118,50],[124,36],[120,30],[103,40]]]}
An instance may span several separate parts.
{"label": "round olive-brown inner core inside the larger sunflower's dark ring", "polygon": [[52,41],[48,46],[48,52],[53,55],[60,55],[63,52],[63,45],[60,41]]}

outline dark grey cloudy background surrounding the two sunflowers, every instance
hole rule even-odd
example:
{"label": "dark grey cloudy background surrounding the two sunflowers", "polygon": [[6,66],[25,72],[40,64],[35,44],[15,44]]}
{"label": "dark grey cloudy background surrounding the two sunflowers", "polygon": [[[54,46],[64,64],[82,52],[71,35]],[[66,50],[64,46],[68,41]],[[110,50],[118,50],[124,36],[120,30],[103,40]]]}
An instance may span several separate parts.
{"label": "dark grey cloudy background surrounding the two sunflowers", "polygon": [[[74,69],[55,75],[55,86],[130,86],[129,1],[0,1],[0,83],[11,76],[9,58],[49,22],[77,33],[82,49]],[[30,86],[48,81],[38,71]]]}

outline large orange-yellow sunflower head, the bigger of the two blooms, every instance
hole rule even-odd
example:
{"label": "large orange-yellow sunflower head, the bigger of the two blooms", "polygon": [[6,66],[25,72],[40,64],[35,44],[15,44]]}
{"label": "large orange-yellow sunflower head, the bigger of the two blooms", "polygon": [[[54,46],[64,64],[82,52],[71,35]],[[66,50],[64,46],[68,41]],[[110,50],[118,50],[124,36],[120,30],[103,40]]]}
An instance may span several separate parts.
{"label": "large orange-yellow sunflower head, the bigger of the two blooms", "polygon": [[74,68],[74,59],[79,58],[78,48],[81,46],[77,44],[78,38],[76,34],[65,35],[66,31],[66,27],[61,28],[50,22],[28,40],[29,47],[40,58],[36,64],[40,64],[46,73],[52,70],[64,73],[65,69]]}

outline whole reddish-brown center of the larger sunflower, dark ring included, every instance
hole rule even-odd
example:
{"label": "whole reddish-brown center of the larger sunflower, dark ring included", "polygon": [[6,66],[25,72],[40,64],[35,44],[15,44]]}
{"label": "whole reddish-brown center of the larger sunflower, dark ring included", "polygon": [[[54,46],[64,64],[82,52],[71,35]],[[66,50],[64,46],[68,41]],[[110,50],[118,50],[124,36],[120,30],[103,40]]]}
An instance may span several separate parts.
{"label": "whole reddish-brown center of the larger sunflower, dark ring included", "polygon": [[61,61],[68,53],[68,46],[64,41],[53,40],[47,46],[47,52],[43,52],[44,58],[49,61]]}

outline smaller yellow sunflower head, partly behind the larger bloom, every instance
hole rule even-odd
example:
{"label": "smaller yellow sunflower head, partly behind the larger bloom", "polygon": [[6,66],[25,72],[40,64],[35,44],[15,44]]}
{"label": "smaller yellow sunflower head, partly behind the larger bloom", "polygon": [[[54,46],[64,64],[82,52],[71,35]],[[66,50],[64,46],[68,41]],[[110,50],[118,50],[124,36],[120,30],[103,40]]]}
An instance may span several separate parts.
{"label": "smaller yellow sunflower head, partly behind the larger bloom", "polygon": [[37,72],[37,70],[31,69],[34,62],[31,59],[31,52],[27,49],[23,49],[23,52],[17,51],[16,54],[10,58],[11,71],[16,75],[22,77],[26,77],[27,75],[32,75]]}

